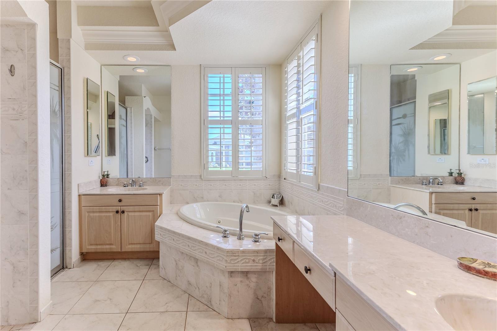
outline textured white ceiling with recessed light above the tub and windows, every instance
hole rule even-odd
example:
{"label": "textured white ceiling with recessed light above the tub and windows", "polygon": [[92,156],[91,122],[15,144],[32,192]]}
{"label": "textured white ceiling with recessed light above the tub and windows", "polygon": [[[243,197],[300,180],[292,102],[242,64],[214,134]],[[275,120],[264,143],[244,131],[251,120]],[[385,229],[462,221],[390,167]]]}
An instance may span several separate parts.
{"label": "textured white ceiling with recessed light above the tub and windows", "polygon": [[[176,51],[134,51],[141,64],[280,64],[330,1],[214,0],[170,26]],[[125,64],[129,51],[88,51]]]}

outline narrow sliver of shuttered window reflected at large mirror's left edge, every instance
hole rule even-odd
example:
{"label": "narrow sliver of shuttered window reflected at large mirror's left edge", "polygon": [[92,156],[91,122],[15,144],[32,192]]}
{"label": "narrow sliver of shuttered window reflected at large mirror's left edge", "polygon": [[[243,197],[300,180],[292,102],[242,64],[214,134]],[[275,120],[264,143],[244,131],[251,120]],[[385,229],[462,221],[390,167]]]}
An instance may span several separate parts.
{"label": "narrow sliver of shuttered window reflected at large mirror's left edge", "polygon": [[347,169],[350,178],[359,178],[360,72],[360,65],[348,68]]}

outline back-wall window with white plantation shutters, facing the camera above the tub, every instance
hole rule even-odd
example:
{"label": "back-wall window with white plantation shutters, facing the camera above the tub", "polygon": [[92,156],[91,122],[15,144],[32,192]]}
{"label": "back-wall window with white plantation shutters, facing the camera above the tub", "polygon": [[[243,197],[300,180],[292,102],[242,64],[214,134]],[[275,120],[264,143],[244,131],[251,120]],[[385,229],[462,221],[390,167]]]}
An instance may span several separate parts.
{"label": "back-wall window with white plantation shutters, facing the camera above the tub", "polygon": [[265,67],[203,67],[204,177],[266,175]]}

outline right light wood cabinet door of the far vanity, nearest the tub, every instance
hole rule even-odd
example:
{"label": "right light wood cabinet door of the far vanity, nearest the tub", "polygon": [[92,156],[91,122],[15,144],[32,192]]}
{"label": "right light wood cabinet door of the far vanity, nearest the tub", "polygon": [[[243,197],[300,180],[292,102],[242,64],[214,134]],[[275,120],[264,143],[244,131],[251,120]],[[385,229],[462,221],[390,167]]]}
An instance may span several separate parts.
{"label": "right light wood cabinet door of the far vanity, nearest the tub", "polygon": [[159,250],[155,222],[159,206],[121,207],[121,250]]}

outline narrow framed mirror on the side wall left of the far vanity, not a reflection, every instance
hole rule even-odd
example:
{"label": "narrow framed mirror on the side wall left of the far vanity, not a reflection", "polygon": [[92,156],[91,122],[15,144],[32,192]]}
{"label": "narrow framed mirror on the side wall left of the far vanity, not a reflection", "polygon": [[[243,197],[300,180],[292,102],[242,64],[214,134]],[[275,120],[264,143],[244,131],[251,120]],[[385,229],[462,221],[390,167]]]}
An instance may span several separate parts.
{"label": "narrow framed mirror on the side wall left of the far vanity, not a reflection", "polygon": [[100,85],[84,80],[84,156],[100,155]]}

